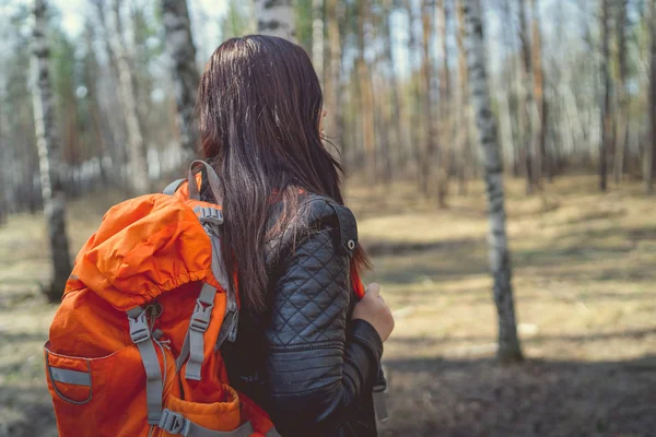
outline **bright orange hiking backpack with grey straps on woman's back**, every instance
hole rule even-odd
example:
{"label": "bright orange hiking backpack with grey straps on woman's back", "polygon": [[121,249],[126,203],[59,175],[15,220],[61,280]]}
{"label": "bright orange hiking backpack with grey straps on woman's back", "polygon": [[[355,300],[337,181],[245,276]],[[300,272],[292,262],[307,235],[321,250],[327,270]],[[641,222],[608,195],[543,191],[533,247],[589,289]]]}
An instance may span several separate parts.
{"label": "bright orange hiking backpack with grey straps on woman's back", "polygon": [[199,164],[215,187],[195,161],[187,182],[112,208],[80,250],[45,346],[61,437],[278,435],[219,351],[235,341],[239,302]]}

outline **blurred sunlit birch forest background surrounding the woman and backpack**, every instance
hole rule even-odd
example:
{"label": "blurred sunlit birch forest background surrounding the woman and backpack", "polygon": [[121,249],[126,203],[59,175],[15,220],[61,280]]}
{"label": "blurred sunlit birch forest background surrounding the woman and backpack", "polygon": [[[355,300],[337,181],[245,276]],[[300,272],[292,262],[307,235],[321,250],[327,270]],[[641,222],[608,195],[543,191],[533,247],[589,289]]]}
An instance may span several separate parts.
{"label": "blurred sunlit birch forest background surrounding the woman and backpack", "polygon": [[258,32],[313,59],[395,309],[382,435],[655,435],[656,0],[0,0],[0,436],[56,435],[71,256],[179,177],[204,62]]}

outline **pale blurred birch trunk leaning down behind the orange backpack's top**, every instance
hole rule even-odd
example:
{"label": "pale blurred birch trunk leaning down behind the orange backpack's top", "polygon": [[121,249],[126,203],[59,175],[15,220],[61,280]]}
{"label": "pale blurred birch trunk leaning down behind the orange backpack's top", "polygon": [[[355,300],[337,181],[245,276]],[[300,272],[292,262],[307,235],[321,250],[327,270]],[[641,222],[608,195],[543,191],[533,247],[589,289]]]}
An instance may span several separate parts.
{"label": "pale blurred birch trunk leaning down behind the orange backpack's top", "polygon": [[133,194],[143,194],[149,190],[148,161],[145,144],[137,114],[136,91],[132,70],[128,60],[124,38],[120,32],[120,0],[113,0],[112,11],[106,14],[109,47],[118,69],[118,92],[128,133],[127,152],[130,163],[130,182]]}

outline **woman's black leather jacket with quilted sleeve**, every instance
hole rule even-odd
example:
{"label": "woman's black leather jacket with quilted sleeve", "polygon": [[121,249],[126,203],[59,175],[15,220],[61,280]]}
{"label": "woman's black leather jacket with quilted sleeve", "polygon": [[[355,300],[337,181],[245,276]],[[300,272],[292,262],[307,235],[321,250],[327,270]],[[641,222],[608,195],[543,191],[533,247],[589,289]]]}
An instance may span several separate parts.
{"label": "woman's black leather jacket with quilted sleeve", "polygon": [[244,308],[236,343],[222,349],[231,383],[284,437],[376,436],[372,386],[383,343],[370,323],[351,320],[355,220],[314,194],[300,214],[301,226],[267,250],[269,310],[254,317]]}

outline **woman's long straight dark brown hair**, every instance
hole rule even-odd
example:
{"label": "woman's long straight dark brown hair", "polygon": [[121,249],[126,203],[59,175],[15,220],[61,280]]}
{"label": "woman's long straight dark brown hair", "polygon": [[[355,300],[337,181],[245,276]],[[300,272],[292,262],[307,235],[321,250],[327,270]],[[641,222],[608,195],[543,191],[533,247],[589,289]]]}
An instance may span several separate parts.
{"label": "woman's long straight dark brown hair", "polygon": [[[320,138],[323,103],[309,57],[279,37],[229,39],[202,75],[202,152],[223,189],[223,256],[227,271],[237,272],[242,303],[251,312],[266,308],[265,245],[289,225],[301,190],[343,203],[342,168]],[[283,202],[283,213],[267,232],[273,199]],[[361,249],[355,260],[366,263]]]}

